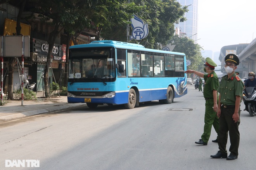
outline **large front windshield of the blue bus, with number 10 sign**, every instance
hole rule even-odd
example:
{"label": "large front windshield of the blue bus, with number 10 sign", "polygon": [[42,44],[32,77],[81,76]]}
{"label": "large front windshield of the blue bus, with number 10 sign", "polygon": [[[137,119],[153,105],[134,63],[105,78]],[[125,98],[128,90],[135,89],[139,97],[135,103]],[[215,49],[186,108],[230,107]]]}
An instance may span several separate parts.
{"label": "large front windshield of the blue bus, with number 10 sign", "polygon": [[74,49],[70,50],[69,55],[70,82],[97,82],[98,79],[114,81],[115,60],[112,48]]}

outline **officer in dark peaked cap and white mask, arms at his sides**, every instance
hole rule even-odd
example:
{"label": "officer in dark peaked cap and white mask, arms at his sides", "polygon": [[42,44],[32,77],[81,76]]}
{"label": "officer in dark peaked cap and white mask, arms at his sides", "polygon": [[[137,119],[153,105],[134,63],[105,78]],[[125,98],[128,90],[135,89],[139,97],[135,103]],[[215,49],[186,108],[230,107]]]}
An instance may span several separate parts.
{"label": "officer in dark peaked cap and white mask, arms at his sides", "polygon": [[[239,58],[235,54],[228,54],[225,57],[225,71],[227,75],[223,76],[218,88],[219,102],[217,116],[219,117],[220,130],[218,136],[219,151],[212,158],[227,158],[227,160],[237,159],[240,133],[238,126],[240,124],[240,102],[244,83],[239,76],[235,74]],[[230,155],[227,156],[226,145],[230,138]]]}

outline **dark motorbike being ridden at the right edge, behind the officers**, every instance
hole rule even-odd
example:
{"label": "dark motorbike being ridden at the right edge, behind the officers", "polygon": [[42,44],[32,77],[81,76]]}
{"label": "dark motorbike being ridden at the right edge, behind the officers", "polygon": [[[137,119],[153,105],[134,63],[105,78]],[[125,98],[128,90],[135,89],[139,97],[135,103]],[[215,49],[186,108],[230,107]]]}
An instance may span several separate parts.
{"label": "dark motorbike being ridden at the right edge, behind the officers", "polygon": [[256,87],[246,87],[243,92],[243,101],[246,105],[246,111],[251,116],[256,115]]}

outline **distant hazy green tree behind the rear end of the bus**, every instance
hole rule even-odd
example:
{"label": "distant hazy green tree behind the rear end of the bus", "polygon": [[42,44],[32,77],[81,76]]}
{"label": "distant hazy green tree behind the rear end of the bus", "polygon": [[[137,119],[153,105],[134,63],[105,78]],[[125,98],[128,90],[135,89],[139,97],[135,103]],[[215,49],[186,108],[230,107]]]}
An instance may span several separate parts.
{"label": "distant hazy green tree behind the rear end of the bus", "polygon": [[176,45],[173,51],[186,54],[187,60],[191,62],[191,65],[187,67],[188,69],[203,71],[205,59],[201,55],[202,48],[199,44],[195,44],[192,39],[178,35],[175,35],[169,43]]}

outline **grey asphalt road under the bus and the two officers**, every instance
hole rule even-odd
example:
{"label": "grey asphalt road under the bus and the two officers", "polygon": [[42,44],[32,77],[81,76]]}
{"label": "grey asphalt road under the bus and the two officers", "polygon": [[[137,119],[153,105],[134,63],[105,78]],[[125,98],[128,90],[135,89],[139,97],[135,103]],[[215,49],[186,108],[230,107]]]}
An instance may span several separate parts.
{"label": "grey asphalt road under the bus and the two officers", "polygon": [[[152,101],[134,109],[84,106],[2,122],[0,169],[255,169],[256,117],[241,112],[237,160],[210,158],[218,151],[218,144],[211,142],[217,134],[213,129],[207,146],[195,144],[203,132],[205,100],[194,85],[188,90],[172,104]],[[40,167],[5,167],[5,160],[40,160]]]}

